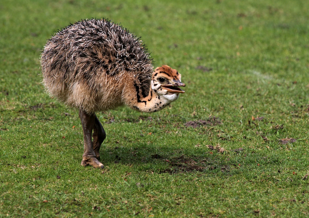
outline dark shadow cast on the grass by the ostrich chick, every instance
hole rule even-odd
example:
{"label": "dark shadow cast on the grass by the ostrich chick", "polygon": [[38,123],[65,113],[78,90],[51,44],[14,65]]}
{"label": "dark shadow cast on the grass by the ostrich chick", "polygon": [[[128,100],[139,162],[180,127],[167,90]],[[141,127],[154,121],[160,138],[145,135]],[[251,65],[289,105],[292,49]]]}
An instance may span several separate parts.
{"label": "dark shadow cast on the grass by the ostrich chick", "polygon": [[[191,152],[191,153],[190,153]],[[211,152],[212,153],[212,152]],[[226,175],[235,174],[227,156],[214,151],[214,155],[205,150],[174,150],[167,147],[101,147],[101,161],[104,165],[122,164],[145,166],[146,171],[156,173],[198,173],[221,171]],[[235,166],[235,165],[234,165]]]}

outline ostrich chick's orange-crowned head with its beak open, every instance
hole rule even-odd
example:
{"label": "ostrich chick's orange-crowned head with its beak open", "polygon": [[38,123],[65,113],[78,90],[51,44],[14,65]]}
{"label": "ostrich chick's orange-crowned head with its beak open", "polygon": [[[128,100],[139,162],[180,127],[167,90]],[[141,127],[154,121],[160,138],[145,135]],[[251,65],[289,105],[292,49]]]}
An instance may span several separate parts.
{"label": "ostrich chick's orange-crowned head with its beak open", "polygon": [[178,98],[179,93],[184,93],[179,87],[186,85],[181,82],[181,75],[175,69],[167,65],[157,67],[152,75],[151,88],[159,96],[163,96],[169,102]]}

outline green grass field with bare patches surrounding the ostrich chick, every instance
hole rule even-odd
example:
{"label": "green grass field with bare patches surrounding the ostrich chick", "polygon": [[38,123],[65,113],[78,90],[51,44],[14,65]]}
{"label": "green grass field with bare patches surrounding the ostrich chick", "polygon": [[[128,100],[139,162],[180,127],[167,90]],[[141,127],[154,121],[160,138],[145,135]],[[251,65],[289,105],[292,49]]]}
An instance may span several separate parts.
{"label": "green grass field with bare patches surrounding the ostrich chick", "polygon": [[[0,217],[309,216],[309,1],[0,3]],[[186,93],[98,113],[105,169],[80,165],[78,112],[40,84],[50,36],[129,28]]]}

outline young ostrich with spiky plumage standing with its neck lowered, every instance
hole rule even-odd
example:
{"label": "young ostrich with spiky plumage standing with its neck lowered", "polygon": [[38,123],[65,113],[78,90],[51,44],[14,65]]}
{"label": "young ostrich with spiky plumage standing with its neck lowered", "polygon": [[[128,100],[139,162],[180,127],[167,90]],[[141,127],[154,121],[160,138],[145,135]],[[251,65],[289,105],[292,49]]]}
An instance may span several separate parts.
{"label": "young ostrich with spiky plumage standing with its neck lowered", "polygon": [[49,95],[79,110],[83,166],[104,168],[99,149],[106,135],[95,112],[121,105],[156,112],[184,93],[176,70],[167,65],[153,70],[140,38],[106,19],[81,20],[57,32],[40,63]]}

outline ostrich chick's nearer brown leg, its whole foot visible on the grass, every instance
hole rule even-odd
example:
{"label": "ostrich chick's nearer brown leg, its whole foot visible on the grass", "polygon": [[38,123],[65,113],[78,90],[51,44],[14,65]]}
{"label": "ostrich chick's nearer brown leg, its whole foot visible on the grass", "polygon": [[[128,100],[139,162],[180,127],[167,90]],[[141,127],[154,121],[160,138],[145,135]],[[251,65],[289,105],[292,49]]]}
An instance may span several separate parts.
{"label": "ostrich chick's nearer brown leg, its whole foot visible on the grass", "polygon": [[84,112],[82,109],[79,110],[78,115],[80,121],[82,122],[84,132],[84,153],[81,165],[83,166],[92,165],[95,168],[100,167],[101,169],[103,169],[104,165],[100,163],[99,160],[96,158],[95,151],[93,150],[93,144],[91,142],[91,134],[95,126],[96,116],[94,113],[88,114]]}

